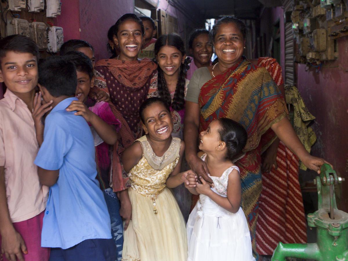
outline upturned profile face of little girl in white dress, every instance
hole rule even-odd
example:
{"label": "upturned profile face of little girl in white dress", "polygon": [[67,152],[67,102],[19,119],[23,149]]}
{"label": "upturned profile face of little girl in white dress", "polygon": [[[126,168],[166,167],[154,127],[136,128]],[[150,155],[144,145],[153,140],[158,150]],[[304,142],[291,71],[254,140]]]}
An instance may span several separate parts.
{"label": "upturned profile face of little girl in white dress", "polygon": [[199,149],[204,152],[214,151],[215,148],[219,146],[220,134],[219,134],[219,121],[213,120],[211,124],[209,124],[208,128],[201,132],[201,138],[199,142]]}

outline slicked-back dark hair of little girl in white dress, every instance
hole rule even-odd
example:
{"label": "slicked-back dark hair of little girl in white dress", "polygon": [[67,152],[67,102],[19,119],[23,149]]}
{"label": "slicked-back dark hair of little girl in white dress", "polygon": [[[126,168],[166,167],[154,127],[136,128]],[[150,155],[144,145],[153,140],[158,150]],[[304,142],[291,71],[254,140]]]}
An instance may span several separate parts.
{"label": "slicked-back dark hair of little girl in white dress", "polygon": [[220,140],[226,143],[228,160],[235,159],[235,156],[238,155],[244,149],[248,134],[245,128],[238,122],[228,119],[228,118],[219,118],[219,134]]}

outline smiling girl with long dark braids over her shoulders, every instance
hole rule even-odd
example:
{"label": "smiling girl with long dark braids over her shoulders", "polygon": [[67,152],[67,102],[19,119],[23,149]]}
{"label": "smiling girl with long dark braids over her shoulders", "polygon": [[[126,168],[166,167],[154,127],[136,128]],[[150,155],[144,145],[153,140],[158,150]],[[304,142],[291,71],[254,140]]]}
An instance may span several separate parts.
{"label": "smiling girl with long dark braids over her shoulders", "polygon": [[[172,136],[183,139],[185,116],[185,96],[189,80],[186,78],[189,60],[186,59],[184,41],[178,34],[161,35],[155,44],[155,57],[158,63],[158,94],[167,102],[171,110],[174,129]],[[181,171],[189,169],[186,160]],[[187,221],[190,214],[191,197],[184,185],[173,189],[180,210]]]}

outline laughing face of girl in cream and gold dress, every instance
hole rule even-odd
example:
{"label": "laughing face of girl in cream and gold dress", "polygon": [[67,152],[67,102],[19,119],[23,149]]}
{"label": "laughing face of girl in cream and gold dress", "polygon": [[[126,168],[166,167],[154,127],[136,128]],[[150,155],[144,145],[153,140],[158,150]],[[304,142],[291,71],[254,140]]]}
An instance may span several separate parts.
{"label": "laughing face of girl in cream and gold dress", "polygon": [[149,134],[150,139],[164,141],[168,139],[173,132],[173,119],[171,113],[166,107],[155,102],[149,105],[143,111],[143,129]]}

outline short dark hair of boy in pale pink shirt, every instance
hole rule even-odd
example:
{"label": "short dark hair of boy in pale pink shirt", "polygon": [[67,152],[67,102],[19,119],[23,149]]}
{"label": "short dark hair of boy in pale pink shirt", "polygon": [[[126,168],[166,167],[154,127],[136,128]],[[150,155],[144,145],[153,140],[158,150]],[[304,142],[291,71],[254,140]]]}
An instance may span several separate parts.
{"label": "short dark hair of boy in pale pink shirt", "polygon": [[9,51],[18,53],[30,53],[36,56],[38,62],[40,59],[39,47],[32,39],[24,35],[9,35],[0,41],[0,61],[3,57],[6,56],[6,53]]}

